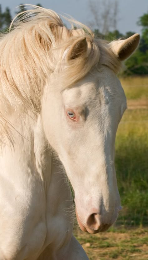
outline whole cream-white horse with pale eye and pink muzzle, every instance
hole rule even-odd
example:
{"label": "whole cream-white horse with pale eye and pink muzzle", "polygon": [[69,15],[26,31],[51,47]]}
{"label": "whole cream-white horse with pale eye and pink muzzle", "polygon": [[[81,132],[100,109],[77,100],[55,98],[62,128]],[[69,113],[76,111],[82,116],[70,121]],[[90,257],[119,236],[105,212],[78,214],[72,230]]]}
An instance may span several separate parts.
{"label": "whole cream-white horse with pale eye and pink muzzle", "polygon": [[121,210],[116,73],[139,34],[108,43],[38,7],[12,27],[0,41],[0,260],[86,260],[65,170],[80,228],[105,231]]}

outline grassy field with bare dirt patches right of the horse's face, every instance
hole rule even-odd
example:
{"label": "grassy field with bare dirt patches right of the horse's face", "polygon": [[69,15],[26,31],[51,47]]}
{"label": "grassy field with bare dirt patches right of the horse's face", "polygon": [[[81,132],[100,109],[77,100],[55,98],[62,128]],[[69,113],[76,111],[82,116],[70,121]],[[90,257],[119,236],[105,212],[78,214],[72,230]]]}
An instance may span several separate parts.
{"label": "grassy field with bare dirt patches right of the horse's face", "polygon": [[148,260],[148,77],[122,78],[128,109],[116,135],[123,210],[108,232],[75,235],[90,260]]}

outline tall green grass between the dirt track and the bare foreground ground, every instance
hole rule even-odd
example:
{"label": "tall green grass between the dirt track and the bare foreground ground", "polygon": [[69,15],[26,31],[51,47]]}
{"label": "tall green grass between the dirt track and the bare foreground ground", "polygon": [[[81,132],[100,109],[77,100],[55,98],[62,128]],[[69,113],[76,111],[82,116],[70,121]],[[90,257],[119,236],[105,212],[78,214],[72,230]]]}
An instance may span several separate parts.
{"label": "tall green grass between the dirt track and the bare foreground ground", "polygon": [[115,147],[115,167],[123,205],[117,224],[148,225],[148,109],[125,112]]}

